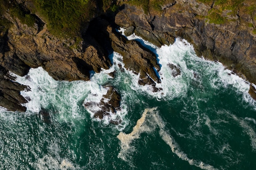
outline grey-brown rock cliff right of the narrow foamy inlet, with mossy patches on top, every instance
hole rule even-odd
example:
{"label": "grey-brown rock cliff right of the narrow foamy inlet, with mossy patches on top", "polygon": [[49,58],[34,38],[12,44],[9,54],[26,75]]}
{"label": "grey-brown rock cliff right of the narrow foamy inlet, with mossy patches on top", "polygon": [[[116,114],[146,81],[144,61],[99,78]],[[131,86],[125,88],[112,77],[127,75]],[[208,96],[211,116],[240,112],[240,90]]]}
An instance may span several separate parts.
{"label": "grey-brown rock cliff right of the narrow foamy inlet, with mossy patches on top", "polygon": [[217,17],[209,18],[210,10],[219,7],[214,1],[207,4],[176,0],[171,6],[165,6],[161,12],[145,13],[140,7],[124,4],[115,22],[127,28],[132,26],[135,33],[158,46],[169,45],[173,37],[184,38],[193,44],[198,56],[222,62],[236,73],[242,73],[249,82],[256,83],[256,34],[253,27],[246,25],[254,26],[256,22],[245,9],[238,9],[237,13],[224,10],[220,16],[223,21],[218,23],[213,20]]}

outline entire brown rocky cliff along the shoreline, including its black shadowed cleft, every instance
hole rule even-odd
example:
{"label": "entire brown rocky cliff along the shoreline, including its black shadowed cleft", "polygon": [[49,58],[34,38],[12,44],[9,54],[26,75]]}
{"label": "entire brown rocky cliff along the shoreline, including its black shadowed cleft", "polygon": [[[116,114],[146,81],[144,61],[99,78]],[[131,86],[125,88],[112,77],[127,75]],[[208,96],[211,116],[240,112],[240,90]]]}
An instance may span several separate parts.
{"label": "entire brown rocky cliff along the shoreline, including its black shadowed cleft", "polygon": [[[16,2],[32,13],[32,1]],[[162,0],[158,6],[150,6],[155,1],[146,2],[148,8],[119,0],[115,4],[119,5],[118,11],[94,13],[83,24],[79,37],[53,35],[45,18],[36,12],[32,13],[36,20],[28,26],[10,11],[1,11],[1,18],[8,20],[11,26],[3,29],[1,25],[0,29],[0,84],[3,84],[0,106],[25,111],[21,104],[27,99],[22,98],[19,91],[26,87],[9,80],[8,71],[24,76],[30,68],[42,66],[57,80],[88,81],[89,71],[99,72],[111,66],[108,55],[113,51],[124,56],[126,68],[140,72],[140,84],[154,86],[155,82],[160,82],[153,69],[159,69],[155,54],[139,42],[127,40],[116,31],[118,26],[128,28],[127,35],[136,33],[157,46],[171,44],[177,37],[184,38],[194,45],[198,56],[220,61],[256,84],[256,11],[250,8],[254,2],[242,0],[243,6],[236,8],[211,0]]]}

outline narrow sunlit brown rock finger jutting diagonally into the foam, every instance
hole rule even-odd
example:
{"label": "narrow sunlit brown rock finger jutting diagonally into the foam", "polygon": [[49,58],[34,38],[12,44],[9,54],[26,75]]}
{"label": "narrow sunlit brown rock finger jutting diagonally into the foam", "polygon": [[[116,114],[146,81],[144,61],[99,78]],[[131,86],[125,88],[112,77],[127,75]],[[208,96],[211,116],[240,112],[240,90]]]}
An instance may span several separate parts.
{"label": "narrow sunlit brown rock finger jutting diagonally into the foam", "polygon": [[152,51],[149,51],[135,40],[127,40],[110,26],[107,27],[107,31],[112,40],[112,48],[123,56],[125,68],[140,73],[141,81],[145,82],[145,84],[151,83],[149,77],[151,77],[153,81],[159,82],[159,78],[153,67],[157,70],[159,70],[160,67]]}

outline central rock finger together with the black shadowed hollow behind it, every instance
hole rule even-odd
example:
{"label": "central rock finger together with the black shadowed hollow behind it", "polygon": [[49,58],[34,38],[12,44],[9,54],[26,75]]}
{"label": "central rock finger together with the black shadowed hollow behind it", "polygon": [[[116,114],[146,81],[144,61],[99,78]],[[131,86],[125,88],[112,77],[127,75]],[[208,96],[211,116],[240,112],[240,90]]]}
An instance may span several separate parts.
{"label": "central rock finger together with the black shadowed hollow behind it", "polygon": [[140,42],[128,40],[121,35],[110,22],[104,18],[97,18],[90,23],[85,37],[90,37],[94,46],[104,46],[105,51],[113,51],[123,56],[124,66],[140,74],[142,84],[155,84],[159,78],[154,68],[159,71],[156,55],[145,48]]}

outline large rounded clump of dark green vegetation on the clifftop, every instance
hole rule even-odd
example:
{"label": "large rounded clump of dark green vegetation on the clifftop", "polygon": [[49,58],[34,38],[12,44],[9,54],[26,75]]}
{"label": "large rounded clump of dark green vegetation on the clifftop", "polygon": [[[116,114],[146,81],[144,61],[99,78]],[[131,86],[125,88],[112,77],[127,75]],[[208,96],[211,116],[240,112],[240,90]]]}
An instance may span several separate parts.
{"label": "large rounded clump of dark green vegetation on the clifftop", "polygon": [[33,0],[49,31],[56,36],[75,37],[93,15],[95,5],[89,0]]}

